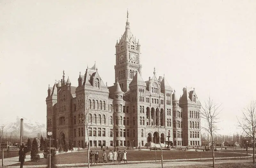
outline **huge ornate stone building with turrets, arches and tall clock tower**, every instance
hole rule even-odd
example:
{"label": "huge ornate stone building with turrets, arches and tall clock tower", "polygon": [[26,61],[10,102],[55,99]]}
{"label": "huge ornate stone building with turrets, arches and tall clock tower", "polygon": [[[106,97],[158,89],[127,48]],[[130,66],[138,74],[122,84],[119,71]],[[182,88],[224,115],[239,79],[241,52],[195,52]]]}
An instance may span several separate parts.
{"label": "huge ornate stone building with turrets, arches and tall clock tower", "polygon": [[152,77],[142,79],[140,42],[130,30],[128,12],[124,34],[115,47],[113,86],[103,83],[95,65],[79,74],[76,87],[65,80],[64,71],[61,81],[49,86],[47,131],[53,132],[52,138],[58,143],[72,139],[76,147],[87,142],[83,108],[90,113],[91,146],[144,146],[167,140],[174,145],[201,145],[201,104],[195,90],[183,88],[178,98],[165,77],[156,77],[155,68]]}

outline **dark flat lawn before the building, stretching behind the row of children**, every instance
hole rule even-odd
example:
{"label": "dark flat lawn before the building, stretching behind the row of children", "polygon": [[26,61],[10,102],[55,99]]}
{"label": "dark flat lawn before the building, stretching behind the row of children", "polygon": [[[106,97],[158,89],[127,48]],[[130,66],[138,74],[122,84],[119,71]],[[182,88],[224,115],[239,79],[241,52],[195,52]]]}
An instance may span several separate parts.
{"label": "dark flat lawn before the building, stretching behind the row of children", "polygon": [[[102,161],[102,151],[99,151],[99,161]],[[215,152],[215,157],[241,157],[246,156],[246,154],[241,153],[226,153],[226,152]],[[195,151],[163,151],[163,159],[185,159],[185,158],[200,158],[201,152]],[[212,152],[203,152],[202,158],[212,157]],[[127,150],[127,161],[140,161],[140,160],[161,160],[161,152],[150,151],[150,150]],[[28,161],[24,165],[42,165],[48,164],[48,158],[41,158],[38,162]],[[56,155],[52,157],[52,164],[71,164],[71,163],[87,163],[87,152],[72,152],[72,153],[62,153],[61,155]],[[13,164],[13,165],[20,165]]]}

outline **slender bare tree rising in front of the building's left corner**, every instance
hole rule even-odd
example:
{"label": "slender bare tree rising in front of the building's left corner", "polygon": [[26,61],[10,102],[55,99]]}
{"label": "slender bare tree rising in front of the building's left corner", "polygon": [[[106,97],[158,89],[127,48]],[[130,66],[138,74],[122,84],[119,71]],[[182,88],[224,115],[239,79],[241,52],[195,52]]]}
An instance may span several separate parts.
{"label": "slender bare tree rising in front of the building's left corner", "polygon": [[[85,98],[85,99],[83,99]],[[88,140],[88,151],[87,151],[87,158],[88,158],[88,168],[90,168],[90,140],[89,140],[89,128],[92,126],[92,111],[91,111],[91,104],[88,103],[88,95],[85,94],[83,98],[78,97],[78,104],[79,108],[81,109],[81,117],[79,118],[79,121],[83,122],[86,134],[87,134],[87,140]],[[86,140],[86,136],[85,136]]]}

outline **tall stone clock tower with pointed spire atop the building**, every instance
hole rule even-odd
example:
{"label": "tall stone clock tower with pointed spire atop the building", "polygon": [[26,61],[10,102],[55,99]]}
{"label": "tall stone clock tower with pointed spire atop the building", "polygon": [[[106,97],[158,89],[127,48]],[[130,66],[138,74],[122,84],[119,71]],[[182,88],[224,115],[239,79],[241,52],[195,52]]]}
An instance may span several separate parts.
{"label": "tall stone clock tower with pointed spire atop the building", "polygon": [[123,92],[129,90],[131,83],[136,72],[141,75],[140,64],[140,42],[136,41],[130,30],[130,22],[128,21],[129,13],[127,10],[127,21],[123,36],[119,42],[116,41],[116,65],[115,65],[115,82],[120,84]]}

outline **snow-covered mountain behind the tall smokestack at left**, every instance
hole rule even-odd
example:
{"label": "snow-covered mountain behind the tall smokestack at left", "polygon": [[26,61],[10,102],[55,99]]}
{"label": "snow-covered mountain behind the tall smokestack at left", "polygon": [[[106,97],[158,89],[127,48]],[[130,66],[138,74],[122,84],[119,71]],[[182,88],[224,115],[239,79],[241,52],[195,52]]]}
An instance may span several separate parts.
{"label": "snow-covered mountain behind the tall smokestack at left", "polygon": [[23,118],[23,135],[35,137],[38,134],[46,133],[46,125],[36,120],[30,120],[22,116],[17,116],[16,121],[4,124],[4,134],[6,136],[20,136],[20,119]]}

